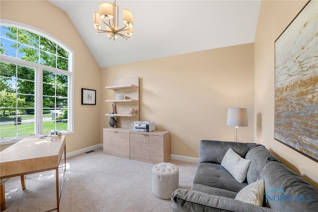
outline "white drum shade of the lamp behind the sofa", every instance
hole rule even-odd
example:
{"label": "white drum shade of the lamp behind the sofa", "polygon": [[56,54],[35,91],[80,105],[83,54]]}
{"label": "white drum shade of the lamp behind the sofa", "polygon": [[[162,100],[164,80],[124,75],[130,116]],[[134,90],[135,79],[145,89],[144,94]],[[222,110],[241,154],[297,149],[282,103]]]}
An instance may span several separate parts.
{"label": "white drum shade of the lamp behind the sofa", "polygon": [[228,126],[247,126],[247,109],[246,108],[229,108],[227,125]]}

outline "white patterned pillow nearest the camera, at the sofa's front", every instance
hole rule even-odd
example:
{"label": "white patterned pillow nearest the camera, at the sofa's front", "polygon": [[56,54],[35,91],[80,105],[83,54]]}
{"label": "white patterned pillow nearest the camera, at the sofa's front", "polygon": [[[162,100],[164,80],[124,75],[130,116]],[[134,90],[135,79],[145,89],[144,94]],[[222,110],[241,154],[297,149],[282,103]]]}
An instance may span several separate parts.
{"label": "white patterned pillow nearest the camera, at the sofa's front", "polygon": [[239,191],[235,199],[256,206],[263,206],[264,180],[261,179],[249,184],[248,186],[245,186]]}

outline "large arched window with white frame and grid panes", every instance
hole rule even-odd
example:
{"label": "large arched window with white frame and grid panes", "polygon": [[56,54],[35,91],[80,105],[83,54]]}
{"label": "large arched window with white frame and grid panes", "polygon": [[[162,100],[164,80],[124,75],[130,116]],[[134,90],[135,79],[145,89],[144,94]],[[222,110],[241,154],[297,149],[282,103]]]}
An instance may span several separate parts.
{"label": "large arched window with white frame and grid panes", "polygon": [[73,132],[73,51],[30,26],[0,24],[0,141]]}

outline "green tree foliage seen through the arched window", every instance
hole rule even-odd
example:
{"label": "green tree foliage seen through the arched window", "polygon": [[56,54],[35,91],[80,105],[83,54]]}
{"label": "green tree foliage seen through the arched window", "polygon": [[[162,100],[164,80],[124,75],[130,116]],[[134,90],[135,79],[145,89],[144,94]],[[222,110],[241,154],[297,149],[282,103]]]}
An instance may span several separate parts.
{"label": "green tree foliage seen through the arched window", "polygon": [[[14,44],[10,45],[10,48],[17,49],[18,58],[68,71],[69,53],[55,42],[27,30],[9,26],[0,27],[4,32],[3,36],[5,38],[15,41]],[[0,53],[12,55],[7,51],[9,50],[6,50],[1,43]],[[32,109],[34,107],[33,95],[35,93],[34,80],[34,69],[0,61],[0,92],[6,91],[7,93],[21,94],[18,99],[24,99],[22,107],[31,108],[26,109],[27,111],[34,110]],[[43,107],[55,107],[57,102],[63,102],[60,99],[67,99],[68,96],[68,77],[44,71],[43,95],[45,96],[43,98]],[[56,100],[56,97],[59,97],[59,100]]]}

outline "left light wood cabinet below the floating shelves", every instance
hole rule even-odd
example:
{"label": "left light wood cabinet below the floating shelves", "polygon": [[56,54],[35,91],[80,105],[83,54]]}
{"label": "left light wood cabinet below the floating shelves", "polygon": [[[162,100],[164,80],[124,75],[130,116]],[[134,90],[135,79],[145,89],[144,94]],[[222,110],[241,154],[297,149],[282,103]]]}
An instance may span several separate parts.
{"label": "left light wood cabinet below the floating shelves", "polygon": [[103,151],[105,154],[130,158],[129,129],[105,128],[103,130]]}

